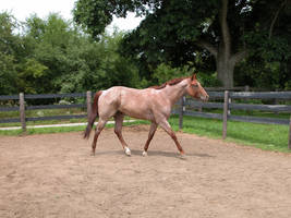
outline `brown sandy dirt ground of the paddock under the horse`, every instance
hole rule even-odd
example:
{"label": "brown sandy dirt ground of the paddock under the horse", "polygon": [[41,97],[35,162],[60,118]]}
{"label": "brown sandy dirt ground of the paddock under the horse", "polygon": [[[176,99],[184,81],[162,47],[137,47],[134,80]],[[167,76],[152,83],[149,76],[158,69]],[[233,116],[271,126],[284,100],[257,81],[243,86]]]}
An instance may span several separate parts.
{"label": "brown sandy dirt ground of the paddock under the horse", "polygon": [[90,156],[81,133],[0,136],[0,217],[290,218],[291,155],[178,133],[177,157],[158,130],[142,157],[147,125],[113,130]]}

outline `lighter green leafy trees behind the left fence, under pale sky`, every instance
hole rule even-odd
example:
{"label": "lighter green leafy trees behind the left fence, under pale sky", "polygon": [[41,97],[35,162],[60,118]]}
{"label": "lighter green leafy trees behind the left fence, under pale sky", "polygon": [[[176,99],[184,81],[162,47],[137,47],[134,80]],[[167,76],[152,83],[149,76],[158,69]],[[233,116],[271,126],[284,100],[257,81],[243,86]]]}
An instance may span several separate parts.
{"label": "lighter green leafy trees behind the left fence, under pale sky", "polygon": [[75,93],[114,85],[138,86],[136,66],[118,52],[123,33],[102,34],[96,43],[58,14],[32,15],[15,35],[13,16],[0,14],[0,92]]}

